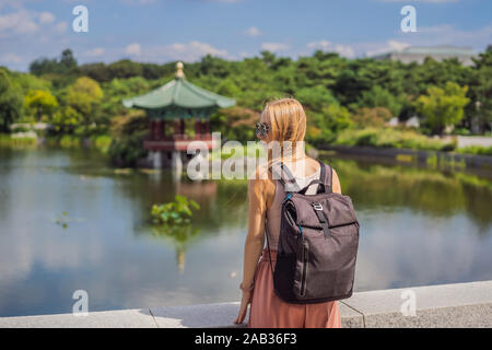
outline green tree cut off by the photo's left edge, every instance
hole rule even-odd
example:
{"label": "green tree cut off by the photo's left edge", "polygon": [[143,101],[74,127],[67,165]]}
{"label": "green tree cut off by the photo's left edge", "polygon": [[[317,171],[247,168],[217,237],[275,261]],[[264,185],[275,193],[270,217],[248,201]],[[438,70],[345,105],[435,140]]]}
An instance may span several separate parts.
{"label": "green tree cut off by the photo's left edge", "polygon": [[9,131],[9,126],[21,116],[22,93],[7,74],[0,69],[0,130]]}

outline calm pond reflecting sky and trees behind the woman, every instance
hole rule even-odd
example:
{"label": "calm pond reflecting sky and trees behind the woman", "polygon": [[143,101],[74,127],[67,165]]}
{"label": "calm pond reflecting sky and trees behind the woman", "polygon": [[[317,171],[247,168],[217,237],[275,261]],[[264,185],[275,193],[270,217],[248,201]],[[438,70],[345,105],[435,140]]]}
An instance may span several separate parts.
{"label": "calm pond reflecting sky and trees behind the woman", "polygon": [[[492,279],[492,175],[328,156],[361,222],[355,290]],[[0,316],[237,301],[247,183],[114,170],[87,150],[0,150]],[[200,210],[150,224],[176,194]],[[65,212],[65,214],[63,214]]]}

